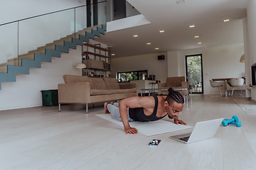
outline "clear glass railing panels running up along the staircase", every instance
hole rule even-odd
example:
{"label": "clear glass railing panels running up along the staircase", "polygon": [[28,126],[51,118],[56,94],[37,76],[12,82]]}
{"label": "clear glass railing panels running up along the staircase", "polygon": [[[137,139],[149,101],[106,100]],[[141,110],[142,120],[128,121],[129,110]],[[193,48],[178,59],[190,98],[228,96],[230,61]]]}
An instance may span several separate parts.
{"label": "clear glass railing panels running up along the staircase", "polygon": [[[106,6],[107,1],[102,1],[1,24],[0,72],[7,72],[7,64],[21,65],[17,62],[21,58],[33,58],[31,53],[38,51],[40,47],[39,53],[43,54],[43,47],[46,45],[55,42],[63,45],[63,40],[71,42],[72,38],[78,38],[82,32],[85,35],[84,29],[87,28],[89,18],[92,21],[90,26],[106,23]],[[97,13],[92,12],[94,15],[88,18],[87,10],[93,11],[95,8]],[[97,24],[93,23],[95,17]],[[90,32],[90,29],[87,32]]]}

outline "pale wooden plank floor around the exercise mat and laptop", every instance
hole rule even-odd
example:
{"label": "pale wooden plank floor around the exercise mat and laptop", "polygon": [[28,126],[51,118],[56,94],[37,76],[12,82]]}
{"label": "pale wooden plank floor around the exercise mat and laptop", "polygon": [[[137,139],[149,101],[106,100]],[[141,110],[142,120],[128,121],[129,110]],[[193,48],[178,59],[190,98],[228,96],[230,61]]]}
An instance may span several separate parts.
{"label": "pale wooden plank floor around the exercise mat and laptop", "polygon": [[[0,169],[256,169],[256,104],[245,98],[193,96],[180,118],[188,125],[238,115],[242,127],[218,129],[185,145],[169,134],[125,135],[121,126],[70,106],[0,111]],[[164,118],[168,120],[168,118]],[[149,147],[153,139],[158,147]]]}

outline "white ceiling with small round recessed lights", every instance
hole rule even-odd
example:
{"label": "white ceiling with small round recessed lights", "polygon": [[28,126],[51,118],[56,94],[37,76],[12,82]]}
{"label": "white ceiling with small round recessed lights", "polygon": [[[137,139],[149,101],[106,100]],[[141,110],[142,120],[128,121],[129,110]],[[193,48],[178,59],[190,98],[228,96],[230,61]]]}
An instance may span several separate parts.
{"label": "white ceiling with small round recessed lights", "polygon": [[[106,33],[114,57],[186,50],[243,42],[242,18],[249,0],[127,0],[151,23]],[[224,23],[224,19],[230,19]],[[189,28],[195,25],[195,28]],[[164,33],[159,33],[164,30]],[[132,35],[139,35],[134,38]],[[200,35],[199,38],[194,38]],[[151,45],[146,45],[151,42]],[[202,42],[198,45],[198,42]],[[155,50],[159,47],[159,50]]]}

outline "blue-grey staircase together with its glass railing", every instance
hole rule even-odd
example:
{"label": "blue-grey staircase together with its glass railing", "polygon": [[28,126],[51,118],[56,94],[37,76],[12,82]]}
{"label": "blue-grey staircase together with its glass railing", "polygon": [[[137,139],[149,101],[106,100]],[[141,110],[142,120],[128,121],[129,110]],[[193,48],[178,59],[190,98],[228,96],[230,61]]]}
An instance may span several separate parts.
{"label": "blue-grey staircase together with its glass railing", "polygon": [[[102,1],[90,8],[105,13],[106,5]],[[98,25],[87,28],[87,9],[80,6],[0,25],[0,89],[1,81],[16,81],[16,74],[29,74],[29,67],[41,68],[41,62],[105,34],[105,15],[96,13]]]}

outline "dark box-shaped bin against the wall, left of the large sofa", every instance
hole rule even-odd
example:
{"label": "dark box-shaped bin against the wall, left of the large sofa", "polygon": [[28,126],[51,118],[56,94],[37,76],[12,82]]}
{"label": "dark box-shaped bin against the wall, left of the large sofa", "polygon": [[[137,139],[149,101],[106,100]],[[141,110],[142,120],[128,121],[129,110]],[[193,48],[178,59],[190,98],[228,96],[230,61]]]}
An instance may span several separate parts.
{"label": "dark box-shaped bin against the wall, left of the large sofa", "polygon": [[43,106],[58,106],[58,90],[46,90],[41,92]]}

